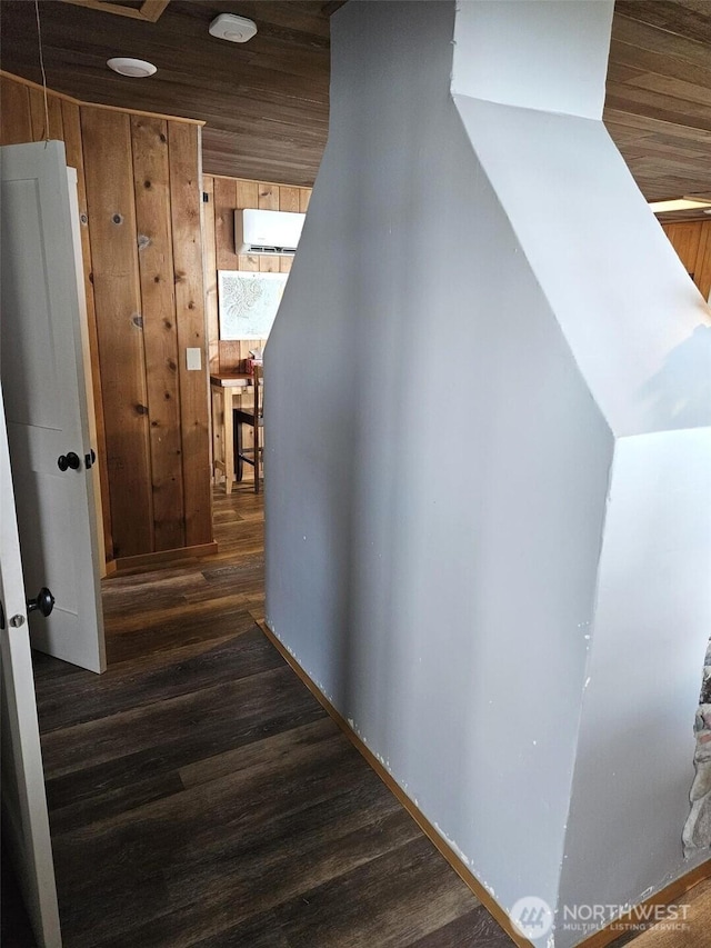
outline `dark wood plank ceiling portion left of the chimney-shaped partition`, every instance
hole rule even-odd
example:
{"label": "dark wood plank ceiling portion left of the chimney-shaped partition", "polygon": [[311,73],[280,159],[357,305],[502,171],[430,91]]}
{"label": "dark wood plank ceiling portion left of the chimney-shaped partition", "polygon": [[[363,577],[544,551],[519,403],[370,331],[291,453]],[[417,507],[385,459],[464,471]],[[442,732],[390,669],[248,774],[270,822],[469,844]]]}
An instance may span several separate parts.
{"label": "dark wood plank ceiling portion left of the chimney-shaped partition", "polygon": [[[51,89],[204,120],[206,172],[313,184],[329,113],[323,0],[171,0],[156,22],[61,0],[39,6]],[[243,44],[211,37],[218,13],[249,17],[259,31]],[[40,82],[34,3],[1,0],[0,28],[2,69]],[[146,59],[158,72],[117,76],[106,64],[116,56]]]}

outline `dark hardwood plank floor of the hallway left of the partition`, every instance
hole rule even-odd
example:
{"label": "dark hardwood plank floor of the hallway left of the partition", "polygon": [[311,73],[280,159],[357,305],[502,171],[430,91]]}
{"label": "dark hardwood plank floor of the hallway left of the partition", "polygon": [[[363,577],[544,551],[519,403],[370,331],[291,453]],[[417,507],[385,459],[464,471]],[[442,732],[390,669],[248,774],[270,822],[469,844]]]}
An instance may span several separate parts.
{"label": "dark hardwood plank floor of the hallway left of the partition", "polygon": [[511,946],[259,629],[261,505],[104,582],[103,676],[37,657],[66,948]]}

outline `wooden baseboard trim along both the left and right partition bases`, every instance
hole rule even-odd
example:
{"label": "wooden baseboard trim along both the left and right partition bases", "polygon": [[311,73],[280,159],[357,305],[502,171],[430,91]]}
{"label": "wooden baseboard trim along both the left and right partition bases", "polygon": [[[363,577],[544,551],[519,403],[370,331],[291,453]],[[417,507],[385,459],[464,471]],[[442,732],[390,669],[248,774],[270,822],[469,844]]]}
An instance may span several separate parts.
{"label": "wooden baseboard trim along both the left and right partition bases", "polygon": [[[509,935],[513,942],[519,946],[519,948],[532,948],[532,942],[529,941],[527,938],[523,938],[523,936],[520,935],[520,932],[513,927],[508,914],[501,908],[501,906],[497,901],[494,901],[494,899],[489,895],[489,892],[484,889],[484,887],[477,879],[477,877],[462,862],[457,852],[454,852],[454,850],[450,846],[448,846],[448,844],[434,829],[432,824],[422,812],[420,812],[418,807],[415,807],[410,797],[408,797],[408,795],[403,792],[401,787],[394,781],[394,779],[385,770],[385,768],[378,760],[378,758],[372,754],[371,750],[368,749],[363,741],[358,737],[356,731],[353,731],[346,718],[343,718],[336,710],[333,705],[331,705],[331,702],[323,695],[318,685],[316,685],[316,682],[309,677],[309,675],[303,670],[303,668],[301,668],[296,658],[284,648],[281,641],[269,628],[267,622],[260,620],[258,621],[258,625],[263,631],[263,633],[267,636],[269,641],[274,646],[277,651],[284,659],[284,661],[299,676],[301,681],[303,681],[303,683],[307,686],[309,691],[311,691],[317,701],[336,721],[336,724],[349,738],[356,749],[365,758],[370,767],[375,771],[375,774],[380,777],[380,779],[388,787],[388,789],[392,794],[394,794],[397,799],[410,814],[410,816],[420,827],[422,832],[424,832],[424,835],[430,839],[430,841],[434,844],[440,854],[444,857],[444,859],[447,859],[447,861],[457,872],[460,879],[462,879],[462,881],[465,882],[465,885],[472,890],[472,892],[477,896],[477,898],[483,905],[487,911],[491,916],[493,916],[493,918],[499,922],[499,925],[503,928],[507,935]],[[704,879],[709,878],[711,878],[711,859],[707,862],[702,862],[701,866],[697,866],[694,869],[691,869],[691,871],[687,872],[684,876],[681,876],[681,878],[677,879],[675,881],[670,882],[668,886],[665,886],[663,889],[660,889],[649,899],[645,899],[643,902],[640,902],[640,905],[635,907],[635,910],[640,912],[641,917],[643,918],[644,916],[642,915],[642,912],[644,908],[675,904],[690,889],[699,885],[699,882],[704,881]],[[605,928],[602,928],[600,931],[595,931],[589,938],[585,938],[577,946],[577,948],[605,948],[605,946],[612,945],[614,941],[618,940],[618,938],[621,938],[625,934],[625,931],[628,930],[625,929],[625,925],[629,928],[635,924],[634,918],[634,910],[629,912],[627,916],[621,916],[620,918],[611,921]]]}

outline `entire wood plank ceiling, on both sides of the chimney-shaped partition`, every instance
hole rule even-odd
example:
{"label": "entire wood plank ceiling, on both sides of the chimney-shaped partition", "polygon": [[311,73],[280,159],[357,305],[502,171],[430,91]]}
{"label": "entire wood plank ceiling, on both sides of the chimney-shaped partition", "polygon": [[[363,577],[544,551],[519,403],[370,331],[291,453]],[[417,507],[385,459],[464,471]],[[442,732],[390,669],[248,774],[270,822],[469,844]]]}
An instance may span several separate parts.
{"label": "entire wood plank ceiling, on both sides of the chimney-shaped partition", "polygon": [[[171,0],[156,22],[86,3],[40,3],[52,89],[203,119],[207,172],[313,183],[328,130],[329,16],[340,2]],[[242,46],[209,36],[223,12],[253,19],[257,37]],[[0,27],[2,68],[40,81],[34,4],[1,0]],[[158,73],[116,76],[112,56],[148,59]],[[649,200],[711,198],[711,0],[617,1],[604,119]]]}

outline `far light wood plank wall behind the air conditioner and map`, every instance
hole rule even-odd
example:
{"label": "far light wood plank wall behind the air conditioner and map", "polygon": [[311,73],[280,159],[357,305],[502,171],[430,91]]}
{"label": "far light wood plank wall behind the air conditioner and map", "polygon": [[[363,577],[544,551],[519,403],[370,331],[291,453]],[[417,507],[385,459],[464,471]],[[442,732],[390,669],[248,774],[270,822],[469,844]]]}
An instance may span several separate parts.
{"label": "far light wood plank wall behind the air conditioner and map", "polygon": [[262,273],[288,273],[290,257],[268,257],[236,252],[234,211],[259,208],[272,211],[306,212],[311,188],[294,188],[243,178],[219,178],[204,174],[202,190],[207,194],[204,211],[204,271],[207,281],[207,325],[210,371],[229,372],[240,368],[249,350],[263,348],[267,340],[220,340],[218,318],[218,270],[251,270]]}

